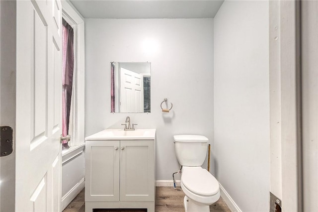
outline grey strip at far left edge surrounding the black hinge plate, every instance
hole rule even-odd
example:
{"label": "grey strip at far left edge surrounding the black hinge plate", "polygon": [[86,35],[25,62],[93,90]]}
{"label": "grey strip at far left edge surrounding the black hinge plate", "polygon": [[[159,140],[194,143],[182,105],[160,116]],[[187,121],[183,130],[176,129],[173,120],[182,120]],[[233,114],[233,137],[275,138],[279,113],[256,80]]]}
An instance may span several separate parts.
{"label": "grey strip at far left edge surrounding the black hinge plate", "polygon": [[[0,125],[13,129],[15,142],[16,1],[0,0]],[[14,148],[14,145],[13,145]],[[0,158],[0,211],[14,211],[15,149]]]}

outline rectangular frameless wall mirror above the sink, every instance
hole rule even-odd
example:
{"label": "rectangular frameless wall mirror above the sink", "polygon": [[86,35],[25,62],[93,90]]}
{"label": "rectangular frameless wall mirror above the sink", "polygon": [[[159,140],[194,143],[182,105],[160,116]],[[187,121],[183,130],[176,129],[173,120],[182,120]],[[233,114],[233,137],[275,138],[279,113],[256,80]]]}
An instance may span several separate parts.
{"label": "rectangular frameless wall mirror above the sink", "polygon": [[151,111],[151,63],[110,63],[110,112]]}

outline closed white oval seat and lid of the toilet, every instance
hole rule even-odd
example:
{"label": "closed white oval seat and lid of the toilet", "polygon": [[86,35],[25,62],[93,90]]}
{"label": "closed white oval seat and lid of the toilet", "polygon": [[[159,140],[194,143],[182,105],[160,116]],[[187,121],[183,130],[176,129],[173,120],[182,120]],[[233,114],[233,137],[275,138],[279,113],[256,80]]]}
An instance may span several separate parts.
{"label": "closed white oval seat and lid of the toilet", "polygon": [[220,191],[219,182],[200,166],[182,167],[181,182],[187,190],[203,197],[216,195]]}

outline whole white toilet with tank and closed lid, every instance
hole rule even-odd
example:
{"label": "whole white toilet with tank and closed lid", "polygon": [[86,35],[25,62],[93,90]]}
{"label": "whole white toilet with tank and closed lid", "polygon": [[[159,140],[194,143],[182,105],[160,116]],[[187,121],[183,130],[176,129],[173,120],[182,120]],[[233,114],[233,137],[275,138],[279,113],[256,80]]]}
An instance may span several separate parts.
{"label": "whole white toilet with tank and closed lid", "polygon": [[210,212],[220,198],[220,186],[203,164],[208,138],[202,135],[174,135],[176,157],[182,166],[181,188],[186,212]]}

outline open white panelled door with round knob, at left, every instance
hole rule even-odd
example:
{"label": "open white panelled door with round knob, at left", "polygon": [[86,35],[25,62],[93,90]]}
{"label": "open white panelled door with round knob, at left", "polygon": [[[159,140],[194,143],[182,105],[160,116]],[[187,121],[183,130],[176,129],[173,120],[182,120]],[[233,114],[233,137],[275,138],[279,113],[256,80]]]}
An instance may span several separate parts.
{"label": "open white panelled door with round knob, at left", "polygon": [[15,211],[61,211],[62,7],[16,1]]}

